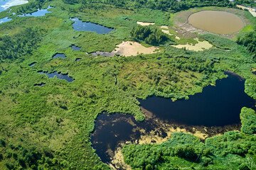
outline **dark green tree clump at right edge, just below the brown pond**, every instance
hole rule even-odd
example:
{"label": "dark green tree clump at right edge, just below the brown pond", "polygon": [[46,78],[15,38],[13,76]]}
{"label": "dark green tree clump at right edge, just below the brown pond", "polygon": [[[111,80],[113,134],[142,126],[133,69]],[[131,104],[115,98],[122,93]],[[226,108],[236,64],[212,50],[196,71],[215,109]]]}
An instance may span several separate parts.
{"label": "dark green tree clump at right edge, just below the brown pond", "polygon": [[256,32],[250,32],[245,34],[245,36],[238,37],[239,45],[244,45],[247,50],[252,54],[253,59],[256,59]]}

